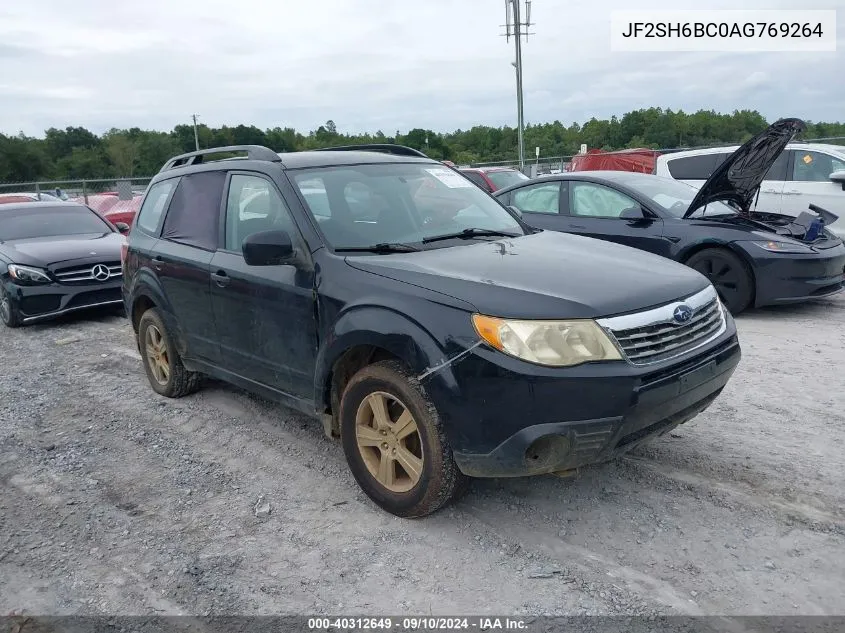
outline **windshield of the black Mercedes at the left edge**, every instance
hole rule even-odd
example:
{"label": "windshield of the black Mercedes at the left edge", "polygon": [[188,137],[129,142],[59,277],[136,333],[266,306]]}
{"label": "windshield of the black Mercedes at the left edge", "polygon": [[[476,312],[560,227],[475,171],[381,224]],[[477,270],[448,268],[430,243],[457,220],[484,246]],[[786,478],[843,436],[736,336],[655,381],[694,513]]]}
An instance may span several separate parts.
{"label": "windshield of the black Mercedes at the left edge", "polygon": [[0,241],[4,242],[110,232],[109,225],[86,207],[67,205],[0,211]]}

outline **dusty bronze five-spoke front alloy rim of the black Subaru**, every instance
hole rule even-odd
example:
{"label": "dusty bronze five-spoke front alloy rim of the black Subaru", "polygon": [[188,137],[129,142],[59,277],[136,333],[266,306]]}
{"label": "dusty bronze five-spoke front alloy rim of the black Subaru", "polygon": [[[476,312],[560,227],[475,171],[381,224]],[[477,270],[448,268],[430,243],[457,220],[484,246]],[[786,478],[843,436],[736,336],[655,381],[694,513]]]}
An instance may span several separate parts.
{"label": "dusty bronze five-spoke front alloy rim of the black Subaru", "polygon": [[408,492],[420,480],[424,455],[408,407],[383,391],[369,394],[355,416],[355,439],[367,470],[387,490]]}

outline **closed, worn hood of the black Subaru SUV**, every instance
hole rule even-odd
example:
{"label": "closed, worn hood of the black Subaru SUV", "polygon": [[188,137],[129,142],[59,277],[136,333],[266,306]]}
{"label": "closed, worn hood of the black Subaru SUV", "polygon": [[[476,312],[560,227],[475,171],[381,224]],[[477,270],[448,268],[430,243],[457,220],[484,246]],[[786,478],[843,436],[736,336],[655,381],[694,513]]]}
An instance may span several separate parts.
{"label": "closed, worn hood of the black Subaru SUV", "polygon": [[669,259],[554,231],[346,261],[508,318],[610,316],[669,303],[709,285]]}

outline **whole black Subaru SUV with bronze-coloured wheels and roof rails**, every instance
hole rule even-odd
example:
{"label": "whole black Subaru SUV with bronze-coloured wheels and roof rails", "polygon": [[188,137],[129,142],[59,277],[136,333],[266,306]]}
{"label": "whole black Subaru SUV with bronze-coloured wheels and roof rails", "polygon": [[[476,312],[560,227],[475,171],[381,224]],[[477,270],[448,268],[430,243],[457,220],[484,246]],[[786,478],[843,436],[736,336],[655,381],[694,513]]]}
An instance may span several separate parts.
{"label": "whole black Subaru SUV with bronze-coloured wheels and roof rails", "polygon": [[209,375],[321,419],[402,517],[471,477],[571,471],[666,433],[740,359],[699,273],[532,229],[401,146],[177,156],[123,268],[157,393]]}

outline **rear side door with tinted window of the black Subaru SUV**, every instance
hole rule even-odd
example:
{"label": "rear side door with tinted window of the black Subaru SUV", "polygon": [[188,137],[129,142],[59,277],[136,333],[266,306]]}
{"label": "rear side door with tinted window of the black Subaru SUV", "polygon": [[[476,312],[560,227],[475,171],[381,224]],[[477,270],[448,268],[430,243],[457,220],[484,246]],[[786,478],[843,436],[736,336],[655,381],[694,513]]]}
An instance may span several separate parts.
{"label": "rear side door with tinted window of the black Subaru SUV", "polygon": [[[170,199],[151,266],[170,303],[191,358],[217,363],[220,349],[211,308],[210,264],[220,233],[226,173],[182,176]],[[143,215],[139,223],[143,221]]]}

